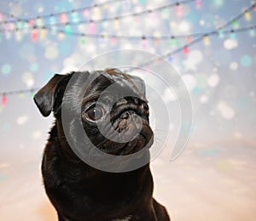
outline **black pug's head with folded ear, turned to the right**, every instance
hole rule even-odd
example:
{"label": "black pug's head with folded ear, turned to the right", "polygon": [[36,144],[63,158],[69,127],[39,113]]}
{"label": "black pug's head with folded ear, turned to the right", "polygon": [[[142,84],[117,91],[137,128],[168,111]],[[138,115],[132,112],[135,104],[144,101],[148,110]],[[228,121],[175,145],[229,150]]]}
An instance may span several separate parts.
{"label": "black pug's head with folded ear, turned to the right", "polygon": [[[53,111],[61,122],[63,104],[70,112],[79,112],[90,144],[108,154],[130,155],[153,143],[145,85],[139,77],[116,69],[55,75],[34,100],[43,116]],[[74,130],[70,127],[70,133]]]}

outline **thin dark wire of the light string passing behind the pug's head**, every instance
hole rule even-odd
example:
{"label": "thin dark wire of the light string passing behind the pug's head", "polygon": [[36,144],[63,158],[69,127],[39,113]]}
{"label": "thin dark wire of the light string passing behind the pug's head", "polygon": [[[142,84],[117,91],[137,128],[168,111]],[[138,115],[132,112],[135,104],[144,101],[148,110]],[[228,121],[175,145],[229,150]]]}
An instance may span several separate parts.
{"label": "thin dark wire of the light string passing behind the pug's head", "polygon": [[[206,37],[206,36],[210,37],[210,36],[212,36],[212,35],[218,34],[219,31],[223,31],[224,28],[226,28],[227,26],[230,26],[230,24],[232,24],[234,21],[240,20],[246,12],[249,12],[249,11],[253,10],[254,7],[255,7],[255,3],[253,3],[253,5],[251,5],[251,6],[248,7],[247,9],[243,10],[243,11],[241,12],[241,14],[238,14],[238,15],[236,15],[233,19],[229,20],[229,21],[228,21],[227,23],[225,23],[223,26],[219,26],[217,29],[215,29],[215,30],[213,30],[213,31],[208,31],[208,32],[206,32],[206,33],[203,33],[203,34],[201,35],[201,37],[197,37],[195,40],[193,40],[193,41],[191,41],[191,42],[189,42],[189,43],[184,44],[182,47],[177,48],[176,50],[172,51],[171,53],[167,53],[167,54],[161,55],[160,58],[164,58],[164,59],[165,59],[165,58],[167,58],[167,57],[170,57],[170,56],[173,55],[173,54],[177,54],[178,52],[183,51],[183,48],[189,48],[190,46],[194,45],[195,43],[201,42],[201,40],[203,39],[203,37]],[[232,30],[226,31],[226,32],[227,32],[227,33],[228,33],[228,32],[231,32],[231,33],[232,33],[232,32],[236,32],[236,31],[237,31],[237,32],[242,32],[242,31],[247,31],[247,30],[252,29],[252,28],[255,29],[255,28],[256,28],[256,25],[255,25],[255,26],[246,27],[246,28],[235,29],[235,30],[232,29]],[[140,67],[145,67],[145,66],[147,66],[147,65],[152,65],[152,63],[154,63],[154,62],[156,62],[156,61],[158,61],[158,60],[159,60],[159,58],[158,58],[158,59],[151,59],[151,60],[148,60],[147,62],[145,62],[145,63],[143,63],[143,64],[140,64],[140,65],[138,65],[138,66],[140,66]],[[128,69],[127,71],[133,71],[133,70],[136,70],[136,69],[137,69],[137,68],[134,67],[134,68]],[[127,72],[127,71],[125,71],[125,72]],[[7,96],[7,95],[28,94],[28,93],[33,94],[33,93],[35,93],[36,91],[38,91],[38,89],[39,89],[39,88],[30,88],[30,89],[24,89],[24,90],[14,90],[14,91],[8,91],[8,92],[0,92],[0,96],[4,97],[4,98],[6,99],[6,96]]]}

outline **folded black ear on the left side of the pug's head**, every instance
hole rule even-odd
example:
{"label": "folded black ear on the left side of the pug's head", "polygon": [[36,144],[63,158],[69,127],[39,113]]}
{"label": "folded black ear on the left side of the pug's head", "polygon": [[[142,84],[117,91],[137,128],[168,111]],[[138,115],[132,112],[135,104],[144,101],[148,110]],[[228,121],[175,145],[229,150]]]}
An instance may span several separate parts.
{"label": "folded black ear on the left side of the pug's head", "polygon": [[50,112],[53,110],[55,105],[55,92],[59,87],[59,82],[65,77],[67,77],[67,75],[55,74],[55,76],[35,94],[34,101],[43,116],[49,116]]}

